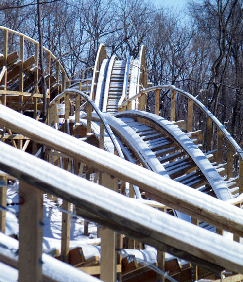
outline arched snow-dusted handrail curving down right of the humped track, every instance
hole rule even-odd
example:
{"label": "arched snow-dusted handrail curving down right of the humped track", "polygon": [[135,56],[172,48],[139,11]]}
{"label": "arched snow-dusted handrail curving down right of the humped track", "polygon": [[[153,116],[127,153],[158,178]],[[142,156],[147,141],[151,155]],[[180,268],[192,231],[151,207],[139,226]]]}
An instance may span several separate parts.
{"label": "arched snow-dusted handrail curving down right of the humped track", "polygon": [[201,103],[199,100],[197,100],[194,96],[192,96],[190,93],[181,90],[179,88],[176,88],[174,85],[158,85],[158,86],[152,86],[148,88],[141,89],[139,93],[131,97],[130,99],[126,100],[124,103],[121,104],[121,106],[127,105],[128,102],[135,100],[137,97],[139,97],[140,94],[145,94],[150,91],[154,91],[156,89],[169,89],[173,90],[177,93],[180,93],[187,97],[188,99],[192,100],[213,122],[214,124],[221,130],[221,132],[224,134],[228,142],[232,145],[232,147],[235,149],[235,151],[239,154],[241,157],[241,160],[243,161],[243,150],[241,147],[237,144],[237,142],[234,140],[234,138],[230,135],[230,133],[226,130],[226,128],[223,126],[223,124],[214,116],[205,106],[203,103]]}

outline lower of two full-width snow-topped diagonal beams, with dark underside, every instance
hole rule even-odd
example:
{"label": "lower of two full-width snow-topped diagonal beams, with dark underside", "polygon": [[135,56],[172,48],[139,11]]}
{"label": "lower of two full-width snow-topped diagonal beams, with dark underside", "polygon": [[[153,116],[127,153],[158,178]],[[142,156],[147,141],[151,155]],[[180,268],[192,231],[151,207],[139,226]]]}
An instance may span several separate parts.
{"label": "lower of two full-width snow-topped diagonal beams, with dark underside", "polygon": [[87,219],[156,249],[216,272],[222,268],[234,272],[243,269],[241,244],[136,203],[3,142],[0,142],[0,169],[74,203]]}

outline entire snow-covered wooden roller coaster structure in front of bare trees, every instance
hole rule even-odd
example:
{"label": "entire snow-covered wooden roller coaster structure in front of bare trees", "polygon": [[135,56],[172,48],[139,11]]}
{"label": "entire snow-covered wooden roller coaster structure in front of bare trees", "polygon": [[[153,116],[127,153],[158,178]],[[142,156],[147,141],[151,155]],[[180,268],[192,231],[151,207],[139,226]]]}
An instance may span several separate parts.
{"label": "entire snow-covered wooden roller coaster structure in front of bare trees", "polygon": [[[5,183],[0,206],[6,207],[8,181],[20,181],[22,199],[18,259],[0,248],[0,262],[17,268],[20,282],[61,281],[39,264],[44,191],[50,199],[62,198],[64,210],[70,212],[73,203],[78,216],[103,226],[97,230],[101,260],[86,260],[82,248],[69,248],[70,214],[64,212],[59,256],[103,281],[168,280],[158,268],[180,282],[243,280],[243,151],[217,118],[189,93],[148,83],[144,46],[139,59],[125,61],[108,58],[101,45],[92,79],[83,76],[76,84],[44,48],[48,125],[42,124],[39,44],[4,27],[0,33],[0,183]],[[170,92],[170,120],[160,116],[161,91]],[[155,93],[153,114],[147,112],[149,93]],[[188,103],[186,120],[175,121],[178,97]],[[205,136],[194,130],[195,109],[207,123]],[[105,197],[115,204],[103,205]],[[148,218],[136,221],[138,209]],[[0,209],[3,233],[5,215]],[[176,232],[177,225],[183,226],[181,218],[191,223]],[[233,233],[235,242],[225,233]],[[142,251],[144,244],[157,249],[156,269],[116,251]],[[166,253],[173,257],[166,259]]]}

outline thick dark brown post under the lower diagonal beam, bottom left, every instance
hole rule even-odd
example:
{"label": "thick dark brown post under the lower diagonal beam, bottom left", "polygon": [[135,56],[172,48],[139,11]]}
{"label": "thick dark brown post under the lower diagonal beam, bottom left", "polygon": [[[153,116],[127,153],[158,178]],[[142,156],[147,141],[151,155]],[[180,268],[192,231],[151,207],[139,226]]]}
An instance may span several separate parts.
{"label": "thick dark brown post under the lower diagonal beam, bottom left", "polygon": [[42,282],[43,192],[20,182],[19,282]]}

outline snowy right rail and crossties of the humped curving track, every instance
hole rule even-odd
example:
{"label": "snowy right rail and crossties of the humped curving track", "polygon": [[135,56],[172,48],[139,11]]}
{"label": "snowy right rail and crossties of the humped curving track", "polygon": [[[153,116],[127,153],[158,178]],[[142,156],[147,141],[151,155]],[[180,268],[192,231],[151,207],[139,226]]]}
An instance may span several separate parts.
{"label": "snowy right rail and crossties of the humped curving track", "polygon": [[208,160],[210,156],[206,156],[178,126],[160,116],[140,111],[126,111],[115,116],[139,135],[170,178],[218,199],[232,198],[226,183]]}

